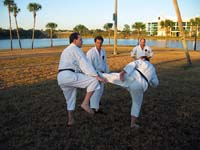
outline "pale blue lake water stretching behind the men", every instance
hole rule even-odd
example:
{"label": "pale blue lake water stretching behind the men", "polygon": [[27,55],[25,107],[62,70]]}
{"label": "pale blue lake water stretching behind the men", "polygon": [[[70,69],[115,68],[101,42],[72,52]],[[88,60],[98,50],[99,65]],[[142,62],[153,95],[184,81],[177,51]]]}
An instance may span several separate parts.
{"label": "pale blue lake water stretching behind the men", "polygon": [[[118,39],[118,45],[129,45],[135,46],[137,45],[137,39]],[[21,39],[22,48],[31,48],[31,39]],[[109,40],[104,39],[104,44],[108,44]],[[156,46],[156,47],[165,47],[165,40],[147,40],[147,45]],[[68,45],[69,39],[53,39],[53,46],[62,46]],[[83,44],[94,44],[93,38],[85,38],[83,39]],[[114,40],[110,39],[110,44],[114,44]],[[194,41],[187,41],[188,49],[194,49]],[[34,40],[34,48],[42,48],[42,47],[50,47],[51,40],[50,39],[35,39]],[[183,48],[181,41],[179,40],[168,40],[167,41],[168,48]],[[17,39],[13,40],[13,48],[19,48],[19,42]],[[0,40],[0,50],[1,49],[10,49],[10,40]],[[200,41],[197,42],[197,50],[200,50]]]}

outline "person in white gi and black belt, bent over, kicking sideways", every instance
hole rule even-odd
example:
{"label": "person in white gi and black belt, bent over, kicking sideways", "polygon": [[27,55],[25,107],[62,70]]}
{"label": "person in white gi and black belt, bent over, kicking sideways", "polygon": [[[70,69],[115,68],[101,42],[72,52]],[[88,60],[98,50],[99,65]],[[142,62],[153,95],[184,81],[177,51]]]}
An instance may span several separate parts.
{"label": "person in white gi and black belt, bent over, kicking sideways", "polygon": [[131,106],[131,128],[139,128],[136,119],[139,117],[143,94],[148,85],[157,87],[159,84],[156,70],[144,54],[140,59],[129,63],[120,73],[104,73],[103,76],[108,82],[125,87],[132,98]]}

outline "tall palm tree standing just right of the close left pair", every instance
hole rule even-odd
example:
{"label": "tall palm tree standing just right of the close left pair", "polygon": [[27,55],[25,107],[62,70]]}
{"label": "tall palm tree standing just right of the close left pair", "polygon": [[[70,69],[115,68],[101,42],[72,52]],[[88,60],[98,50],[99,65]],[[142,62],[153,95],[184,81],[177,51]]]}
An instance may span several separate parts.
{"label": "tall palm tree standing just right of the close left pair", "polygon": [[42,6],[37,3],[29,3],[27,6],[27,9],[30,12],[33,12],[33,18],[34,18],[34,23],[33,23],[33,33],[32,33],[32,49],[33,49],[33,43],[34,43],[34,31],[35,31],[35,23],[36,23],[36,12],[42,9]]}

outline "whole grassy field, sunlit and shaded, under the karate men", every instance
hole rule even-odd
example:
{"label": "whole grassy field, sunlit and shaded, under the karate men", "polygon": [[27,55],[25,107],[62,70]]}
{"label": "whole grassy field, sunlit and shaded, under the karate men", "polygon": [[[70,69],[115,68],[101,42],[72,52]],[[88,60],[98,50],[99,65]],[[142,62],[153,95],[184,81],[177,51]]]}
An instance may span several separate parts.
{"label": "whole grassy field, sunlit and shaded, under the karate men", "polygon": [[[153,47],[160,85],[149,88],[139,118],[130,129],[129,93],[106,84],[101,108],[93,116],[79,106],[76,124],[66,127],[66,105],[57,85],[58,61],[64,47],[0,52],[0,150],[197,150],[200,149],[200,52],[190,52],[192,66],[179,49]],[[90,46],[84,46],[87,51]],[[132,47],[112,55],[111,71],[132,61]]]}

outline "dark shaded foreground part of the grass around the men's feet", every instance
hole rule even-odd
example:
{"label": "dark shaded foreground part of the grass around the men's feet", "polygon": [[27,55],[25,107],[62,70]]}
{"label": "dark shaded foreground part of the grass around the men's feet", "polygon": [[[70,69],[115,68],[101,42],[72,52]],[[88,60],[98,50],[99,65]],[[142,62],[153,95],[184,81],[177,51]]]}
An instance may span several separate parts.
{"label": "dark shaded foreground part of the grass around the men's feet", "polygon": [[197,150],[200,143],[199,62],[157,65],[160,85],[150,88],[138,123],[129,128],[130,95],[107,84],[101,108],[90,116],[80,107],[76,124],[66,127],[65,100],[57,82],[46,81],[0,91],[0,148],[14,150]]}

